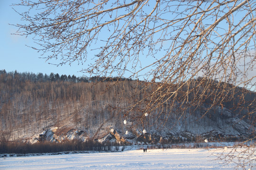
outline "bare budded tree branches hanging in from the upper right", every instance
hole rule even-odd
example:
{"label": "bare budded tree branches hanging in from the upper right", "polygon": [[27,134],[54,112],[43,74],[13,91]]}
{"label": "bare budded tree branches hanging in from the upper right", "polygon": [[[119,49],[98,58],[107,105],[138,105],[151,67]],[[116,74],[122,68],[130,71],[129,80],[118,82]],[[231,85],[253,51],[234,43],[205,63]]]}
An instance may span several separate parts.
{"label": "bare budded tree branches hanging in from the upper right", "polygon": [[[242,118],[251,117],[254,128],[254,0],[21,0],[17,5],[25,10],[19,13],[24,23],[16,25],[18,34],[33,35],[38,44],[33,48],[47,60],[78,61],[84,72],[99,76],[144,79],[137,91],[143,96],[126,108],[139,110],[141,122],[157,108],[183,110],[182,117],[191,106],[229,103],[237,114],[247,110]],[[165,114],[167,120],[166,112],[154,115]]]}

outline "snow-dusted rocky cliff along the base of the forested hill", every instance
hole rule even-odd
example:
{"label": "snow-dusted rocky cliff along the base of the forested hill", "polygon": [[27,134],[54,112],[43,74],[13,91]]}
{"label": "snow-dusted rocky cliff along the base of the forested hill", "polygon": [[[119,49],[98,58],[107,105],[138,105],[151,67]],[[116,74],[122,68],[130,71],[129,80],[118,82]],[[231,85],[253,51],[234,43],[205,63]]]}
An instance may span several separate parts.
{"label": "snow-dusted rocky cliff along the base of the forested hill", "polygon": [[[194,119],[198,119],[197,121],[191,121],[191,117],[188,116],[186,119],[176,122],[172,127],[165,126],[161,129],[145,127],[145,131],[139,127],[118,128],[120,126],[110,125],[106,121],[105,124],[101,125],[97,135],[93,136],[93,139],[100,143],[164,144],[202,142],[204,139],[209,141],[236,141],[243,140],[248,136],[255,136],[255,127],[249,125],[245,120],[233,117],[233,115],[226,108],[216,107],[214,115],[202,119],[195,117]],[[208,124],[207,122],[211,123]],[[72,139],[85,141],[89,138],[92,138],[89,130],[63,126],[47,128],[41,134],[32,136],[29,141],[32,143],[40,141],[62,142]]]}

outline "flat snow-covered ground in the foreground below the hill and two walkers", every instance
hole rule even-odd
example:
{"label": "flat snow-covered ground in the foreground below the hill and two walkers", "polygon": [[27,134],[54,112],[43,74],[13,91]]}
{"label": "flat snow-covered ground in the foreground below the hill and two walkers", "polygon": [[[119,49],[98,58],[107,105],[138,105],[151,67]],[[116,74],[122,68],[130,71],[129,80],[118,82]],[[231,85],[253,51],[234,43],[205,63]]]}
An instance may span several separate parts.
{"label": "flat snow-covered ground in the foreground below the hill and two walkers", "polygon": [[[221,151],[222,152],[222,151]],[[228,151],[226,151],[228,153]],[[208,149],[155,149],[0,158],[0,170],[234,170]]]}

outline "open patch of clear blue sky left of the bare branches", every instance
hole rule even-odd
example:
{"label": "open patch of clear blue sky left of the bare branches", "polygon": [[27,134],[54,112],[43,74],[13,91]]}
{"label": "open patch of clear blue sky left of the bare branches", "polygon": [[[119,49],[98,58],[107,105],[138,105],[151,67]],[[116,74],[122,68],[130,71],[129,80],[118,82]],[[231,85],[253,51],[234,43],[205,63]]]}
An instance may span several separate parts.
{"label": "open patch of clear blue sky left of the bare branches", "polygon": [[9,24],[19,23],[20,16],[10,5],[18,2],[19,0],[0,0],[0,70],[83,76],[84,74],[79,72],[81,65],[73,63],[71,66],[56,67],[48,64],[46,59],[39,58],[43,57],[40,53],[26,46],[33,45],[32,37],[12,35],[17,31],[17,27]]}

